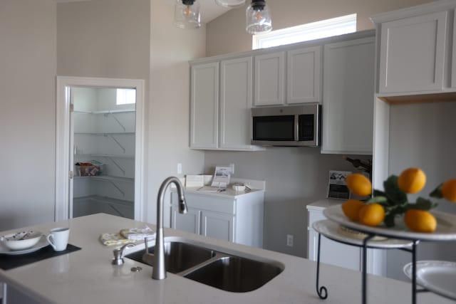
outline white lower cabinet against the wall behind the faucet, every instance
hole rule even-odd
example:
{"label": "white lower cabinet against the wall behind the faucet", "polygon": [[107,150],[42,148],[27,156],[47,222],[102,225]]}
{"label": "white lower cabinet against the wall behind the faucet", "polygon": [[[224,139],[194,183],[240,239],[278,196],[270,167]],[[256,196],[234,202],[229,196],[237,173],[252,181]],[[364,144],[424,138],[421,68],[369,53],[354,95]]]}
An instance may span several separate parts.
{"label": "white lower cabinet against the wall behind the faucet", "polygon": [[171,227],[244,245],[263,246],[264,192],[225,195],[185,191],[189,212],[179,214],[171,193]]}

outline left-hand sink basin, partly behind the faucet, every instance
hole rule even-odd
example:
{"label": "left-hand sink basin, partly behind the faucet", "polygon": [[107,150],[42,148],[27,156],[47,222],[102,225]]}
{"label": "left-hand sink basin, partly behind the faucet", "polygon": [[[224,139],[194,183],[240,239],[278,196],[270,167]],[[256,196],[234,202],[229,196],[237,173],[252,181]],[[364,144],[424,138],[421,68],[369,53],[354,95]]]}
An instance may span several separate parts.
{"label": "left-hand sink basin, partly behind the faucet", "polygon": [[[150,247],[149,252],[154,253],[154,247]],[[150,256],[143,258],[144,253],[145,250],[136,251],[125,257],[153,266],[153,258]],[[166,271],[170,273],[180,273],[209,260],[213,256],[215,256],[215,252],[208,248],[180,241],[165,242],[165,266]]]}

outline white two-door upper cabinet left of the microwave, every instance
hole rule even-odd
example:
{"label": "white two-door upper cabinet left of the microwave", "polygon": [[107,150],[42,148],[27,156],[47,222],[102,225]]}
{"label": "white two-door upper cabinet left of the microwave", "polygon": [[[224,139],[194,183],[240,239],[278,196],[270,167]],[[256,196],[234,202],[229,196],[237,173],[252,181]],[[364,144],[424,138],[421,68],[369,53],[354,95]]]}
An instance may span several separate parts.
{"label": "white two-door upper cabinet left of the microwave", "polygon": [[191,148],[264,150],[250,145],[252,61],[247,56],[192,64]]}

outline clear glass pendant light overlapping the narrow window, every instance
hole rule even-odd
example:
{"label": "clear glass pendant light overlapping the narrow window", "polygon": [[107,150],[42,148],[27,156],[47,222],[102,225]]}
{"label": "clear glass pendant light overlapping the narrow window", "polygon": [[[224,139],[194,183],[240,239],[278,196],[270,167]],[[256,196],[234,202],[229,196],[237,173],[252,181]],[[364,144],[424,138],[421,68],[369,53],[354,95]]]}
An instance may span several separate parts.
{"label": "clear glass pendant light overlapping the narrow window", "polygon": [[272,29],[271,15],[264,0],[252,0],[252,4],[246,10],[247,33],[266,33]]}

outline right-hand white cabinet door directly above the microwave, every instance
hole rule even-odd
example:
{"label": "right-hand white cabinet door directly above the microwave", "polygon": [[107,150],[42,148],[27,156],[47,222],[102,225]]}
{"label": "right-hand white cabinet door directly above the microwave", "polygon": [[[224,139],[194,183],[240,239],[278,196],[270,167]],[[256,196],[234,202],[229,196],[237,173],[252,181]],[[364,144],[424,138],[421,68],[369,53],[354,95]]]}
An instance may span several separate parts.
{"label": "right-hand white cabinet door directly above the microwave", "polygon": [[286,103],[319,103],[321,46],[289,51],[286,59]]}

